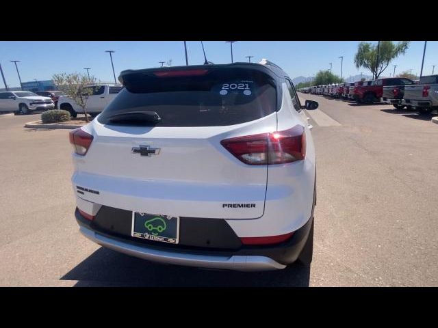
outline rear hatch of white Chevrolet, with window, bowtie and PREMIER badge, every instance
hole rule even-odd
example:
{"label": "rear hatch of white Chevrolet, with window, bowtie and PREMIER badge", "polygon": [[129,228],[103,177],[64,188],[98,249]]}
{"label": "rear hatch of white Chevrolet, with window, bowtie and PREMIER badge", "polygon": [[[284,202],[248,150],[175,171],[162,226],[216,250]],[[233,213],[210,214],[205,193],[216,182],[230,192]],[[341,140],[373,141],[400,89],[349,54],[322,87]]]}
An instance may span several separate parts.
{"label": "rear hatch of white Chevrolet, with window, bowtie and PREMIER badge", "polygon": [[80,197],[159,215],[263,215],[267,165],[242,163],[220,141],[276,130],[275,81],[255,66],[205,67],[121,74],[125,88],[83,128],[94,139],[73,182],[99,194]]}

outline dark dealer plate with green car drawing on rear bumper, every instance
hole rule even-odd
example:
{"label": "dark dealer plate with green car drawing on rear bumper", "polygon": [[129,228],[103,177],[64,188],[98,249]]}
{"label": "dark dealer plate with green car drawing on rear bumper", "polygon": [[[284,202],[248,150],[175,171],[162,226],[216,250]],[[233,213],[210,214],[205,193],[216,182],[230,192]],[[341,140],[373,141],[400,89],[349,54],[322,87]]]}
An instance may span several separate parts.
{"label": "dark dealer plate with green car drawing on rear bumper", "polygon": [[131,236],[177,244],[179,243],[179,217],[133,212]]}

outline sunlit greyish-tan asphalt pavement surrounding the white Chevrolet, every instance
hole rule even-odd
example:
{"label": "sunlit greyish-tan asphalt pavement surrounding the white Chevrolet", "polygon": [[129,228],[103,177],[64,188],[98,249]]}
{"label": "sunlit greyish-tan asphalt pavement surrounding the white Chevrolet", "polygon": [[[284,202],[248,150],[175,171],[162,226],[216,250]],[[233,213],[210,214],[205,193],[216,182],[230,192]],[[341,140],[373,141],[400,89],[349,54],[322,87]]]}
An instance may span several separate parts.
{"label": "sunlit greyish-tan asphalt pavement surrounding the white Chevrolet", "polygon": [[81,236],[66,130],[0,115],[0,286],[438,286],[438,125],[390,105],[300,94],[317,151],[310,269],[153,264]]}

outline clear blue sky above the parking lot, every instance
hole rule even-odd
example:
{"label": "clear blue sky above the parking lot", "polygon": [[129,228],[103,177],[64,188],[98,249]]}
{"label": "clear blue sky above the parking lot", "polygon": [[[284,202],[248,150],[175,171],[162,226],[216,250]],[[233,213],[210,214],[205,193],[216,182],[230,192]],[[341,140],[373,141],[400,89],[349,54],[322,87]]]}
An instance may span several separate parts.
{"label": "clear blue sky above the parking lot", "polygon": [[[376,42],[376,41],[374,41]],[[201,42],[188,41],[189,64],[203,64]],[[233,44],[234,61],[247,61],[246,55],[253,55],[252,61],[269,59],[281,66],[290,77],[310,77],[318,70],[329,69],[333,63],[333,72],[340,73],[341,59],[344,56],[342,76],[370,74],[367,70],[357,70],[353,59],[357,51],[357,41],[237,41]],[[207,59],[214,64],[231,62],[229,43],[205,41]],[[413,69],[420,74],[424,41],[413,41],[405,55],[396,58],[390,65],[398,65],[397,72]],[[17,41],[0,42],[0,64],[10,87],[18,87],[18,76],[10,60],[20,60],[18,69],[21,80],[34,81],[51,79],[59,72],[86,72],[91,68],[101,81],[114,81],[110,55],[105,50],[114,50],[114,68],[116,77],[122,70],[129,68],[158,67],[159,61],[172,59],[172,66],[185,65],[182,41],[138,41],[138,42],[73,42],[73,41]],[[423,74],[432,73],[432,65],[438,65],[438,42],[428,41]],[[394,68],[389,67],[383,76],[389,76]],[[435,68],[438,72],[438,67]],[[3,81],[0,80],[0,87]]]}

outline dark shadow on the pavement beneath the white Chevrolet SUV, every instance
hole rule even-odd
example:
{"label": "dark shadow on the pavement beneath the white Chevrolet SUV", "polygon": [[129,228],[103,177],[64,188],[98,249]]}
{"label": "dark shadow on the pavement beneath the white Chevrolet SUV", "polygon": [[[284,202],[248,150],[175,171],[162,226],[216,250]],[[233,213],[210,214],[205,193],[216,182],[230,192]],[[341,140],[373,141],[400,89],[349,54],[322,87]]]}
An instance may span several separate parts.
{"label": "dark shadow on the pavement beneath the white Chevrolet SUV", "polygon": [[71,269],[62,280],[75,286],[309,286],[310,267],[296,263],[286,269],[238,272],[156,264],[101,247]]}

